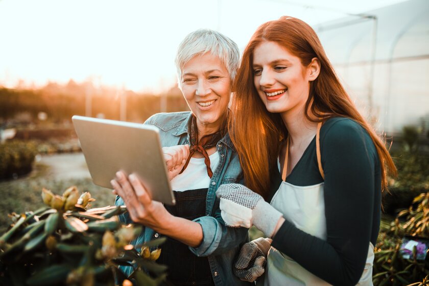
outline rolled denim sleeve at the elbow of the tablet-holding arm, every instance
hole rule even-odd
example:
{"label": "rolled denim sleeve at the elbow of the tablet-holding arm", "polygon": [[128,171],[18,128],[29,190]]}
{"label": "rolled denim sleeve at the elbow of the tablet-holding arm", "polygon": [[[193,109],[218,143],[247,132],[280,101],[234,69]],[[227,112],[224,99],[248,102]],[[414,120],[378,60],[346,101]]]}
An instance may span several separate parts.
{"label": "rolled denim sleeve at the elbow of the tablet-holding arm", "polygon": [[248,240],[248,230],[244,227],[227,227],[223,222],[210,216],[194,220],[203,229],[203,241],[198,247],[189,247],[197,256],[219,255]]}

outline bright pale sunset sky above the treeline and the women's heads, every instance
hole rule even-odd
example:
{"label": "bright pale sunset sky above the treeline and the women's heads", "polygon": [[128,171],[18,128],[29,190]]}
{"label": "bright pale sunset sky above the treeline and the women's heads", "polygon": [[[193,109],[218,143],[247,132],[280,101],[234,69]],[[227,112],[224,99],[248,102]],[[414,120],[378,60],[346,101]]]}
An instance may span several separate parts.
{"label": "bright pale sunset sky above the treeline and the women's heads", "polygon": [[0,0],[0,86],[92,80],[159,93],[176,82],[176,48],[200,28],[241,51],[258,25],[289,15],[311,25],[401,0]]}

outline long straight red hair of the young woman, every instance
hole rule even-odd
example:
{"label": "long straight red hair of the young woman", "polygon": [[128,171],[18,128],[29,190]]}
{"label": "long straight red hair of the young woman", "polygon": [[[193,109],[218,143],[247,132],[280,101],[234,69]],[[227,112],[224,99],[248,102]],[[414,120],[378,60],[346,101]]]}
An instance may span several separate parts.
{"label": "long straight red hair of the young woman", "polygon": [[[303,66],[313,58],[320,61],[320,73],[309,83],[305,105],[308,120],[324,121],[342,116],[360,123],[371,136],[382,164],[382,190],[387,188],[387,171],[396,175],[396,167],[382,139],[358,112],[333,70],[316,32],[304,21],[283,16],[259,26],[244,52],[241,67],[234,82],[228,128],[231,140],[240,156],[246,185],[267,197],[270,169],[277,168],[281,139],[287,130],[279,114],[270,113],[260,100],[253,82],[253,51],[264,41],[275,42],[301,60]],[[311,113],[311,114],[309,114]],[[315,120],[314,118],[318,118]]]}

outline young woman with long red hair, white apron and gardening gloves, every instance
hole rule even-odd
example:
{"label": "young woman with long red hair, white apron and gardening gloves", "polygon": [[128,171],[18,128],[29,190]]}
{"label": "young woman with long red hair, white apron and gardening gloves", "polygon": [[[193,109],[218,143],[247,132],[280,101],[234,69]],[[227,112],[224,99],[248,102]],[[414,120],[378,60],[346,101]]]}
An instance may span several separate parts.
{"label": "young woman with long red hair, white apron and gardening gloves", "polygon": [[[249,189],[223,185],[217,195],[227,225],[255,225],[272,238],[258,282],[372,285],[382,190],[396,168],[308,24],[281,17],[257,29],[243,53],[231,112],[230,135]],[[242,279],[263,272],[260,259],[250,270],[245,265],[263,244],[242,248],[235,265]]]}

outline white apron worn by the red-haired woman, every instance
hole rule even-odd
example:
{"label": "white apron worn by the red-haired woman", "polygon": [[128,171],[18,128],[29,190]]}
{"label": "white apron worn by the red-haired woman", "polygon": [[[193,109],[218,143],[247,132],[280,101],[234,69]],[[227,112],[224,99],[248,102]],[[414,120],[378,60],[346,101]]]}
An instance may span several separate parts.
{"label": "white apron worn by the red-haired woman", "polygon": [[[324,183],[314,186],[294,186],[282,181],[271,205],[280,211],[284,218],[299,229],[326,240],[325,203],[323,197]],[[368,256],[361,280],[357,285],[372,286],[372,264],[374,246],[369,243]],[[257,285],[264,286],[303,286],[330,285],[305,270],[292,258],[284,255],[274,247],[268,253],[265,280],[260,279]]]}

